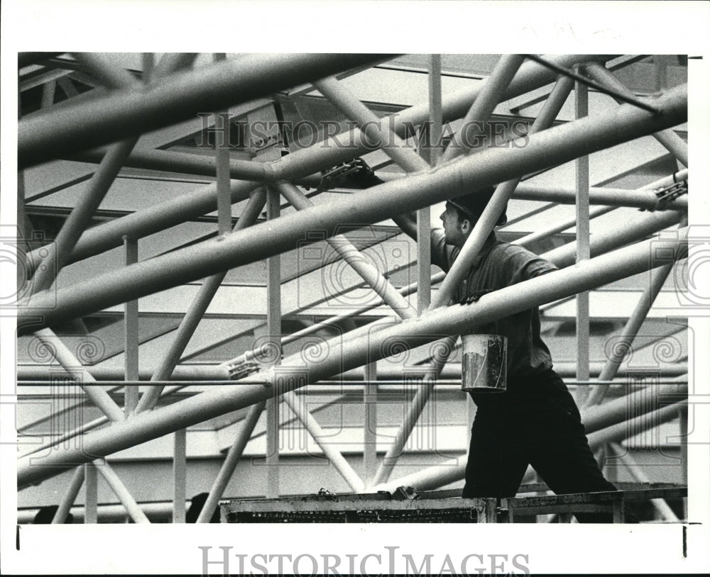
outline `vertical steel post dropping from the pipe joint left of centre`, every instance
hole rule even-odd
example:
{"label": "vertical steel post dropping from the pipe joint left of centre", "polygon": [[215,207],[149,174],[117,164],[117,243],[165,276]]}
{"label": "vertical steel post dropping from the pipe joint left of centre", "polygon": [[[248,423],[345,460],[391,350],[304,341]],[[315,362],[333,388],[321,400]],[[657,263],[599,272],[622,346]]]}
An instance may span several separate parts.
{"label": "vertical steel post dropping from the pipe joint left of centre", "polygon": [[[266,202],[266,218],[273,220],[280,214],[280,195],[269,190]],[[276,254],[267,260],[266,267],[266,331],[271,346],[278,350],[275,364],[280,364],[281,357],[281,257]],[[266,401],[266,497],[279,495],[278,469],[278,396]]]}

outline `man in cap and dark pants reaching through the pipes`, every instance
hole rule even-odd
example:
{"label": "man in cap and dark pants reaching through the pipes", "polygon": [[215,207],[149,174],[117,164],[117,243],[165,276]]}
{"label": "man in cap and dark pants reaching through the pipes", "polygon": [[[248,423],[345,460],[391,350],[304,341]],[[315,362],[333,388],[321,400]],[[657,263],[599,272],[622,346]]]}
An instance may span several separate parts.
{"label": "man in cap and dark pants reaching through the pipes", "polygon": [[[361,186],[373,186],[371,171],[359,176]],[[379,181],[381,182],[381,181]],[[443,228],[431,233],[432,263],[449,271],[474,230],[495,189],[488,187],[446,203]],[[415,215],[395,223],[416,240]],[[497,225],[506,223],[506,213]],[[470,304],[485,293],[503,289],[556,270],[554,264],[518,245],[498,240],[495,231],[484,242],[454,296]],[[476,393],[476,416],[466,464],[464,497],[513,497],[528,465],[557,494],[616,491],[607,481],[589,448],[574,398],[552,369],[550,350],[540,337],[537,307],[501,318],[471,332],[506,337],[508,381],[503,393]],[[611,513],[586,512],[580,522],[611,522]],[[637,522],[630,510],[628,522]]]}

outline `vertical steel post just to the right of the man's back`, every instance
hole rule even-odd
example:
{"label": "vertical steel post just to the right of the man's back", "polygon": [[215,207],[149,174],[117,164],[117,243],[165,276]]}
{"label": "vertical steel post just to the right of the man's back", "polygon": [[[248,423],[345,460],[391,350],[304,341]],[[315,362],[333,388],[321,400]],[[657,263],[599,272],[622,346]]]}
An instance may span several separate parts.
{"label": "vertical steel post just to the right of the man's back", "polygon": [[[585,84],[574,86],[574,117],[589,114],[589,92]],[[575,161],[577,176],[577,262],[589,260],[589,156]],[[577,295],[577,380],[589,381],[589,291]],[[589,385],[577,385],[577,405],[583,406]]]}

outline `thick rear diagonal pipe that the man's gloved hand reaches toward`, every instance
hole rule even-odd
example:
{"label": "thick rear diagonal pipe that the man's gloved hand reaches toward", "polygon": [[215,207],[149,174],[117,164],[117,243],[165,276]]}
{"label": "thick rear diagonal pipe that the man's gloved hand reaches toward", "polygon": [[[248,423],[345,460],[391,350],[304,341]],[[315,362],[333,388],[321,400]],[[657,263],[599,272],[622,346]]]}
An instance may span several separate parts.
{"label": "thick rear diagonal pipe that the man's gloved hand reaches toward", "polygon": [[[604,62],[609,58],[611,57],[603,55],[563,55],[552,56],[547,60],[557,62],[559,65],[572,66],[577,62],[592,60]],[[520,96],[520,94],[544,86],[554,80],[555,75],[549,70],[532,62],[526,63],[520,67],[513,82],[510,82],[504,96],[505,98]],[[447,96],[443,103],[443,120],[448,121],[462,116],[471,102],[476,99],[481,91],[481,86],[484,85],[485,81],[474,89],[465,89]],[[397,113],[393,121],[395,132],[402,137],[409,135],[414,125],[427,120],[428,114],[427,104],[413,106]],[[362,142],[360,131],[354,128],[349,133],[329,138],[318,143],[315,147],[299,150],[273,164],[266,165],[270,175],[266,181],[294,181],[319,172],[324,167],[332,167],[356,155],[369,152],[369,150],[370,148]],[[173,153],[170,152],[170,154]],[[197,159],[193,162],[197,162]],[[214,159],[202,159],[201,162],[211,162],[207,174],[214,174]],[[260,177],[257,180],[261,181],[262,179]],[[256,188],[257,184],[241,183],[241,186],[236,186],[236,188],[235,186],[233,183],[231,187],[233,202],[244,200],[249,192]],[[140,238],[214,211],[217,207],[216,192],[216,186],[210,185],[200,191],[178,196],[170,201],[116,219],[111,223],[94,227],[87,231],[77,243],[77,248],[72,253],[72,262],[119,246],[124,235]]]}

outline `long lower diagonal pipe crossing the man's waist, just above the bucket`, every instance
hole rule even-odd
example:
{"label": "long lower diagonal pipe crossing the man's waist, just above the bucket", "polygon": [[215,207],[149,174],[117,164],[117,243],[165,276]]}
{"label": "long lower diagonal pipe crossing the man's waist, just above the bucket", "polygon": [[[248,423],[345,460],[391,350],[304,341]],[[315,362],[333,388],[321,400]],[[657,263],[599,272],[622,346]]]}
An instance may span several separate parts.
{"label": "long lower diagonal pipe crossing the man's waist, just above the bucket", "polygon": [[[31,457],[19,459],[18,486],[53,476],[68,464],[86,462],[87,454],[111,454],[217,415],[261,402],[275,393],[288,391],[289,386],[295,388],[300,383],[327,379],[339,371],[373,362],[384,356],[386,344],[391,340],[396,340],[404,346],[418,346],[423,344],[422,340],[432,339],[431,335],[441,334],[444,330],[449,335],[454,335],[466,330],[471,324],[488,323],[531,306],[638,274],[648,270],[648,267],[666,264],[649,259],[652,249],[655,250],[653,254],[672,255],[675,259],[684,258],[687,256],[686,238],[687,228],[679,231],[677,239],[674,240],[668,238],[640,242],[638,245],[590,259],[577,267],[552,271],[530,281],[489,293],[473,305],[437,309],[417,319],[365,335],[358,340],[333,343],[322,362],[306,364],[300,355],[289,357],[284,359],[282,365],[293,366],[293,371],[304,376],[304,379],[290,379],[290,383],[285,379],[278,379],[275,382],[275,390],[273,386],[258,385],[214,388],[160,410],[135,415],[131,420],[116,423],[108,430],[84,435],[81,449],[50,453],[43,459],[43,466],[33,466],[29,460]],[[273,378],[273,371],[266,371],[262,376],[269,378],[270,375]]]}

